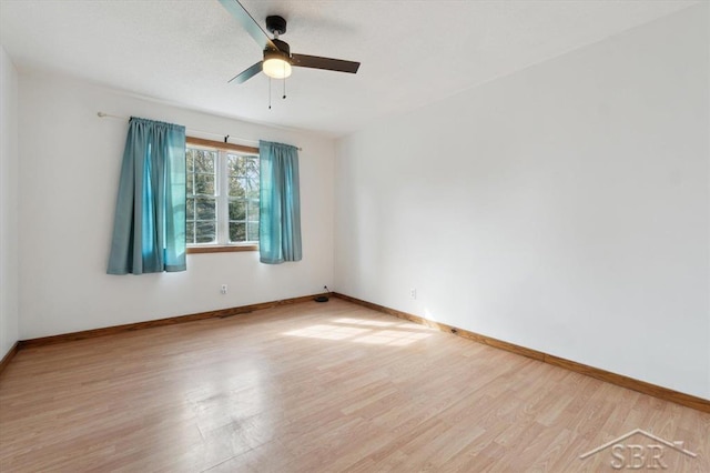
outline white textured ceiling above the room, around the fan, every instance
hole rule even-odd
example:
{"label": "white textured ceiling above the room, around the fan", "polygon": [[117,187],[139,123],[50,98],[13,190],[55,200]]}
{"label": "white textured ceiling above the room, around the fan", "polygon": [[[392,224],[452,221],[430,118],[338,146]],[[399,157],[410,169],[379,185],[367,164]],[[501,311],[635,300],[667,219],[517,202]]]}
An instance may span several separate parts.
{"label": "white textured ceiling above the room, around the fan", "polygon": [[[0,0],[0,41],[20,71],[52,70],[226,117],[353,132],[698,1],[242,0],[288,21],[292,52],[361,61],[357,74],[295,68],[227,84],[261,60],[216,0]],[[110,111],[109,111],[110,112]]]}

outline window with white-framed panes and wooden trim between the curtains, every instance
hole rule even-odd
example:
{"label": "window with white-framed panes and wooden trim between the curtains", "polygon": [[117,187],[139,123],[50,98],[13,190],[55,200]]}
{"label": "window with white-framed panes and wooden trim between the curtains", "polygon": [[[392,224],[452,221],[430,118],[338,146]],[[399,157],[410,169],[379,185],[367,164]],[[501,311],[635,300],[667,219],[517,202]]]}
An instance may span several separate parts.
{"label": "window with white-framed panes and wooden trim between the curtains", "polygon": [[187,138],[189,253],[256,250],[258,149]]}

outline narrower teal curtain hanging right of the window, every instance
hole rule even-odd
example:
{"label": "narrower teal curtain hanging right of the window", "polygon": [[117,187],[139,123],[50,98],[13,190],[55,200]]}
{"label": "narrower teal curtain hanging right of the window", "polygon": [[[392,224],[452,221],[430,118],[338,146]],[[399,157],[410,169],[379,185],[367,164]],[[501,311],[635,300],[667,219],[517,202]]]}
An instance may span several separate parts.
{"label": "narrower teal curtain hanging right of the window", "polygon": [[258,154],[260,261],[267,264],[301,261],[298,149],[290,144],[260,141]]}

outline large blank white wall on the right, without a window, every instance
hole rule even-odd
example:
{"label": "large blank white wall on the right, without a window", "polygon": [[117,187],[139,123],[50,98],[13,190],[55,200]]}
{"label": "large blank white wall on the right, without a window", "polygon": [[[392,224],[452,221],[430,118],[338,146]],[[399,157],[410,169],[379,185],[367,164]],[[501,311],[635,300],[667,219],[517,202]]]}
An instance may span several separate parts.
{"label": "large blank white wall on the right, without a window", "polygon": [[336,290],[710,399],[708,53],[706,3],[342,139]]}

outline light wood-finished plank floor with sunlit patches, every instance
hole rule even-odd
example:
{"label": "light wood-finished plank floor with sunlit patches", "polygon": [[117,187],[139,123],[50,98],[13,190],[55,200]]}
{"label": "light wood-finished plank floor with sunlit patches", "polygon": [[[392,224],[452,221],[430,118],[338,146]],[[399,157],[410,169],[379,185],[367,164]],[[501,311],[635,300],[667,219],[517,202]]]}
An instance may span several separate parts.
{"label": "light wood-finished plank floor with sunlit patches", "polygon": [[26,349],[0,374],[2,472],[615,471],[579,456],[635,429],[698,455],[663,447],[667,471],[710,472],[710,414],[341,300]]}

